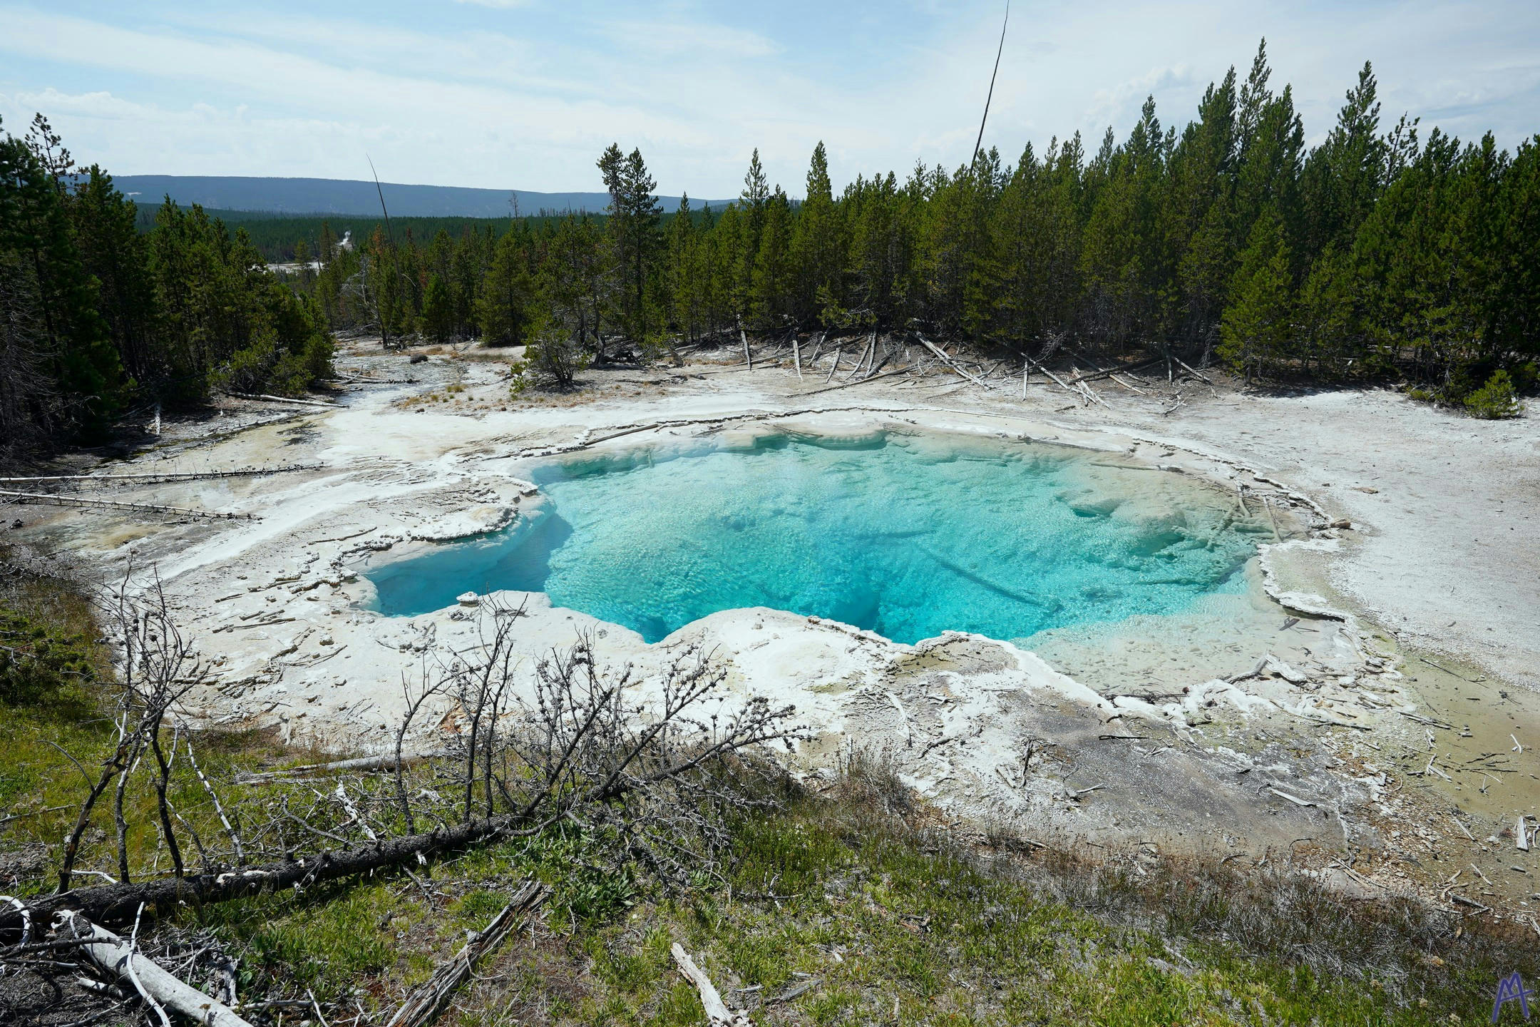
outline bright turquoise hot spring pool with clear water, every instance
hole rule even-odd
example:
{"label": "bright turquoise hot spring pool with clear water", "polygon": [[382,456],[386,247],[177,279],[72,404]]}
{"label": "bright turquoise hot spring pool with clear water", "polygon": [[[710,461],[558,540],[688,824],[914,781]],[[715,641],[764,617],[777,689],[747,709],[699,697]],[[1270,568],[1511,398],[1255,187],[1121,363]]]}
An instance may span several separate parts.
{"label": "bright turquoise hot spring pool with clear water", "polygon": [[1050,443],[773,434],[588,454],[531,477],[544,500],[513,527],[370,568],[376,608],[517,590],[648,642],[747,607],[896,642],[1021,639],[1243,591],[1270,537],[1234,496]]}

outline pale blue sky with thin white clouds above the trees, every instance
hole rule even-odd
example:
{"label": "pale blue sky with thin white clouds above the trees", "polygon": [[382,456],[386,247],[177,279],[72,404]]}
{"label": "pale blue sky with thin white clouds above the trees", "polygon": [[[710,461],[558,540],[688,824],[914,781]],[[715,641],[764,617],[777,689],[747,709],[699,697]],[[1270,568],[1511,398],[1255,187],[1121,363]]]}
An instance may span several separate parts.
{"label": "pale blue sky with thin white clouds above the trees", "polygon": [[[611,142],[659,192],[730,199],[758,146],[804,192],[824,140],[856,174],[972,154],[1004,2],[0,0],[0,119],[42,111],[80,163],[599,191]],[[1540,131],[1540,2],[1015,0],[986,146],[1184,125],[1266,37],[1306,137],[1374,62],[1409,111],[1514,148]]]}

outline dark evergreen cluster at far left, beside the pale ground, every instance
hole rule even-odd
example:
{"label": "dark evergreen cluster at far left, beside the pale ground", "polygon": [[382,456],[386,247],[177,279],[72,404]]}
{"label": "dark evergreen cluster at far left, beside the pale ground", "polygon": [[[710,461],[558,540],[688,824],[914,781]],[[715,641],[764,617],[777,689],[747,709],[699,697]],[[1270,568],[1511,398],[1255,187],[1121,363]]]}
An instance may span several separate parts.
{"label": "dark evergreen cluster at far left, beside the pale ground", "polygon": [[0,456],[100,439],[214,391],[299,393],[330,373],[308,296],[242,231],[166,200],[154,229],[38,115],[0,139]]}

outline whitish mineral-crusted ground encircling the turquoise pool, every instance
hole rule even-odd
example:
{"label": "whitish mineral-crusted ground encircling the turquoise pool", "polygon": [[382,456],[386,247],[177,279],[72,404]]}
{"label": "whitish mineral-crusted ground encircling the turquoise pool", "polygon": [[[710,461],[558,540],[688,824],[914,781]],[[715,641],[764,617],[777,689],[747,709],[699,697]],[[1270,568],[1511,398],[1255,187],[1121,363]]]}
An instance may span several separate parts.
{"label": "whitish mineral-crusted ground encircling the turquoise pool", "polygon": [[542,594],[502,596],[527,608],[525,687],[534,661],[579,631],[650,687],[699,645],[730,670],[727,707],[747,694],[796,704],[815,730],[799,771],[829,773],[859,741],[959,825],[1298,859],[1364,895],[1437,898],[1455,868],[1480,864],[1485,876],[1466,871],[1457,890],[1528,908],[1540,867],[1523,865],[1514,831],[1540,811],[1532,419],[1192,379],[1138,379],[1143,394],[1101,380],[1096,403],[1035,379],[1023,399],[1019,379],[986,391],[939,368],[821,391],[827,357],[802,379],[787,365],[590,371],[573,396],[513,400],[502,359],[407,365],[357,346],[339,366],[376,383],[348,383],[337,408],[231,402],[213,420],[168,423],[111,473],[303,470],[89,490],[259,519],[26,507],[14,537],[103,576],[131,554],[152,564],[216,668],[191,714],[367,750],[393,738],[402,671],[471,645],[488,602],[382,617],[360,567],[517,525],[541,502],[533,462],[776,428],[1100,450],[1266,503],[1289,540],[1264,547],[1244,596],[1024,648],[961,634],[896,645],[770,610],[645,645]]}

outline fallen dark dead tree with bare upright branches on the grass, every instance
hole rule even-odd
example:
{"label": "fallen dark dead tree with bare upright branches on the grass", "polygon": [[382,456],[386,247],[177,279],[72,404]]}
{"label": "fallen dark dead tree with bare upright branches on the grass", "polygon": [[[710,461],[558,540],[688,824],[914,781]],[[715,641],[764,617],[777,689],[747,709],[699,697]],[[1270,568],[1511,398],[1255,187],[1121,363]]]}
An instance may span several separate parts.
{"label": "fallen dark dead tree with bare upright branches on the grass", "polygon": [[[139,730],[140,745],[149,753],[156,745],[152,731],[165,724],[176,697],[191,687],[179,674],[197,667],[169,624],[165,597],[159,590],[154,594],[157,602],[148,608],[148,622],[143,616],[134,621],[136,630],[145,633],[136,637],[160,647],[148,657],[154,673],[140,679],[151,696],[159,696],[154,701],[159,716],[139,718],[140,725],[148,725]],[[496,608],[484,616],[494,624],[499,619]],[[502,619],[511,624],[514,614],[504,610]],[[788,705],[776,707],[762,697],[728,701],[724,673],[699,650],[679,654],[656,682],[645,682],[636,681],[628,667],[614,673],[601,668],[591,645],[579,641],[537,664],[531,697],[508,704],[516,671],[511,634],[488,625],[484,647],[488,645],[479,654],[468,654],[470,659],[459,657],[457,671],[454,654],[442,662],[468,685],[464,697],[456,697],[480,708],[474,751],[467,751],[464,762],[456,759],[453,773],[462,788],[480,779],[487,795],[476,811],[485,816],[464,818],[464,790],[460,801],[445,802],[424,788],[419,798],[425,796],[428,805],[414,810],[402,787],[394,795],[382,793],[383,804],[399,802],[408,821],[427,815],[440,827],[391,835],[383,821],[356,808],[346,793],[340,808],[317,793],[317,802],[302,815],[280,796],[266,805],[268,822],[245,831],[253,864],[233,865],[219,853],[205,851],[205,865],[197,873],[183,868],[171,878],[62,888],[22,904],[23,908],[0,910],[0,938],[20,933],[25,921],[46,924],[63,910],[80,912],[97,924],[126,924],[140,908],[146,915],[166,915],[182,904],[220,902],[410,867],[440,853],[533,838],[562,822],[608,827],[665,879],[678,878],[678,871],[698,865],[725,839],[725,830],[711,822],[711,808],[742,808],[753,802],[741,770],[768,764],[759,756],[768,747],[792,747],[805,736],[804,728],[790,722]],[[151,682],[163,687],[152,688]],[[471,748],[470,742],[465,745]],[[163,756],[168,751],[169,747],[162,748]],[[131,764],[126,756],[112,762]],[[171,770],[169,758],[156,759],[156,767],[162,778],[159,799]],[[471,793],[473,808],[474,798]],[[462,819],[451,824],[444,813],[459,813]],[[325,822],[320,819],[325,816],[333,819]],[[177,813],[168,801],[157,802],[157,818],[162,830],[169,830],[166,825]],[[297,844],[286,833],[294,827],[303,831]],[[695,841],[682,835],[688,831],[695,831]],[[326,847],[317,848],[322,844]]]}

